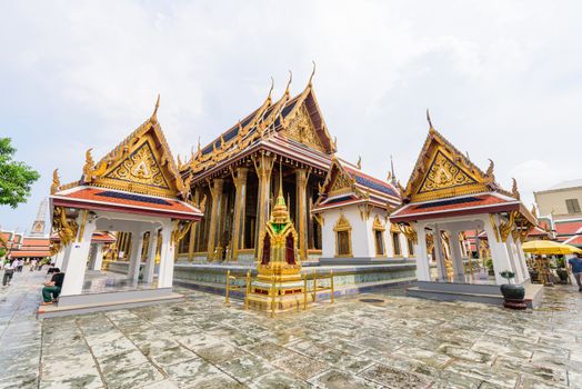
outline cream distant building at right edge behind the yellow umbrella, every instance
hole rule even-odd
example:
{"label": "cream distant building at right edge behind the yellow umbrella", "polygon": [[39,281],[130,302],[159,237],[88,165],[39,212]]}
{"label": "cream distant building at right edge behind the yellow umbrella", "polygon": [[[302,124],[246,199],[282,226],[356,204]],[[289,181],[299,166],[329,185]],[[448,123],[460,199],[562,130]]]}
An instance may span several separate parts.
{"label": "cream distant building at right edge behind the yellow umbrella", "polygon": [[582,247],[582,179],[560,182],[533,196],[540,216],[551,221],[555,239]]}

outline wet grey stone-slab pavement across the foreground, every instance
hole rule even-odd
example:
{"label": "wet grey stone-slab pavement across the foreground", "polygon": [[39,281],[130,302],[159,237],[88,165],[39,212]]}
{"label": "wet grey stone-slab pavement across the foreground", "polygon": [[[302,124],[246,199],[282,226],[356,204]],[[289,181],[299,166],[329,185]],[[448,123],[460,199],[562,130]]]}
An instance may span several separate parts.
{"label": "wet grey stone-slab pavement across the foreground", "polygon": [[275,319],[180,290],[184,302],[39,322],[42,279],[1,290],[0,388],[582,388],[573,287],[526,312],[390,292]]}

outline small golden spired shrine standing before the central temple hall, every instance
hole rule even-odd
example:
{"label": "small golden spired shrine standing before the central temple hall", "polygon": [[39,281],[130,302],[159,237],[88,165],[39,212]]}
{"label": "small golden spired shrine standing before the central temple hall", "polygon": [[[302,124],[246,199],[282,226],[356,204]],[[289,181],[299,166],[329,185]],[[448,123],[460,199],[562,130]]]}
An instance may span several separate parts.
{"label": "small golden spired shrine standing before the central temple hall", "polygon": [[298,260],[298,233],[289,217],[280,177],[279,196],[271,211],[259,257],[259,275],[251,285],[249,305],[261,310],[299,309],[303,299],[301,262]]}

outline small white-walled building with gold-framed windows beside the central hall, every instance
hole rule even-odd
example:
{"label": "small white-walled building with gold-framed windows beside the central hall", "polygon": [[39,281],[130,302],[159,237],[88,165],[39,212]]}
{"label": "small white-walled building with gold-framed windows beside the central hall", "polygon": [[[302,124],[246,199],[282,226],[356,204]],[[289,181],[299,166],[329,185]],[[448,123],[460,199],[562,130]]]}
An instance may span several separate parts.
{"label": "small white-walled building with gold-framed windows beside the central hall", "polygon": [[351,164],[333,156],[312,211],[323,226],[320,262],[414,257],[413,242],[388,219],[399,206],[393,183],[362,172],[361,161]]}

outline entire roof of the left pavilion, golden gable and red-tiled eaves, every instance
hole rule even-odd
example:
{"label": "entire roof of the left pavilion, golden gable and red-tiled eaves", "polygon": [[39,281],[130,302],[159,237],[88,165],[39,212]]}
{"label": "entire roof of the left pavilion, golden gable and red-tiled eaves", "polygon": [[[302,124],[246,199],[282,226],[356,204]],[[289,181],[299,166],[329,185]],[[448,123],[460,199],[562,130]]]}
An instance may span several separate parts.
{"label": "entire roof of the left pavilion, golden gable and red-tiled eaves", "polygon": [[81,180],[60,186],[54,171],[51,201],[56,207],[121,211],[199,220],[189,201],[190,179],[182,179],[158,122],[152,116],[111,152],[94,163],[87,151]]}

